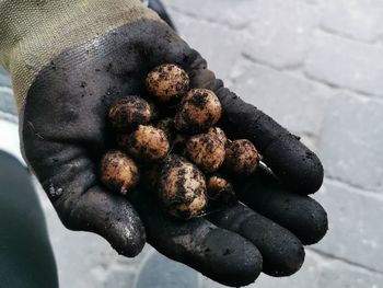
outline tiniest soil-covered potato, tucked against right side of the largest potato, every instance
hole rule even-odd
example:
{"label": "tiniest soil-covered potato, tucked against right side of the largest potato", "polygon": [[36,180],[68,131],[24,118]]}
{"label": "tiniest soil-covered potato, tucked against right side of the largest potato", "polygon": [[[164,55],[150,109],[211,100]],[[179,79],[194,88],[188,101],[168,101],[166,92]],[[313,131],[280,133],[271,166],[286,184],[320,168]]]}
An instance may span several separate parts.
{"label": "tiniest soil-covered potato, tucked against right side of the largest potato", "polygon": [[212,175],[207,183],[208,197],[210,200],[223,203],[225,205],[235,204],[236,196],[233,185],[223,176]]}

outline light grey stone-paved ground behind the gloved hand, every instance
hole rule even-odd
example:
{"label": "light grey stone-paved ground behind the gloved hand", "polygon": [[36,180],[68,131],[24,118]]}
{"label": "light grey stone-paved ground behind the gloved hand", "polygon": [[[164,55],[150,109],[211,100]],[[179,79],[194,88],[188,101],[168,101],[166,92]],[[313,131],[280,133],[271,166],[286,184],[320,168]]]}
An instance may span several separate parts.
{"label": "light grey stone-paved ground behind the gloved hand", "polygon": [[[325,165],[315,198],[328,211],[327,237],[297,275],[252,287],[383,287],[383,2],[165,3],[218,77],[302,135]],[[0,94],[11,93],[7,81],[0,71]],[[221,287],[149,246],[125,260],[95,235],[66,231],[42,198],[65,288]]]}

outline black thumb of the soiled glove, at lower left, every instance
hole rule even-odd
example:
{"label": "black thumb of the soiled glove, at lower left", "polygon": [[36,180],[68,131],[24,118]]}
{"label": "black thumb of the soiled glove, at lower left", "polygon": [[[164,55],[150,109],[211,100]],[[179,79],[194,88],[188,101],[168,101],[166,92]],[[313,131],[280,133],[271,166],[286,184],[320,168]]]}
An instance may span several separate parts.
{"label": "black thumb of the soiled glove, at lower left", "polygon": [[141,219],[121,195],[95,186],[80,198],[60,199],[60,205],[56,205],[56,208],[61,211],[61,221],[68,229],[96,233],[118,254],[135,257],[146,244]]}

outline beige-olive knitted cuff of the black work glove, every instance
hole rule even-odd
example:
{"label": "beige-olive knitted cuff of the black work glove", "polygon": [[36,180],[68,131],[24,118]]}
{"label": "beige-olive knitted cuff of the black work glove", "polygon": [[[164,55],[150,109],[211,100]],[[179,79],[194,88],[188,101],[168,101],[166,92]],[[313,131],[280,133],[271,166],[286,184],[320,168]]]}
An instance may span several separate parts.
{"label": "beige-olive knitted cuff of the black work glove", "polygon": [[0,64],[11,73],[19,111],[35,77],[56,56],[146,19],[161,21],[139,0],[0,0]]}

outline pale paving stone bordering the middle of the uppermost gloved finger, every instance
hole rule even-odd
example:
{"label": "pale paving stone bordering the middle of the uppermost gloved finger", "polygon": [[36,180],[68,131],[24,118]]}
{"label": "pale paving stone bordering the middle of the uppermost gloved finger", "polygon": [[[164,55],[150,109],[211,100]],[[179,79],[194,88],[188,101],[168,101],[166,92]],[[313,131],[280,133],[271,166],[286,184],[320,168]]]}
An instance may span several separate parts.
{"label": "pale paving stone bordering the middle of the uppermost gloved finger", "polygon": [[332,92],[324,85],[256,64],[235,69],[233,91],[295,134],[317,137]]}

